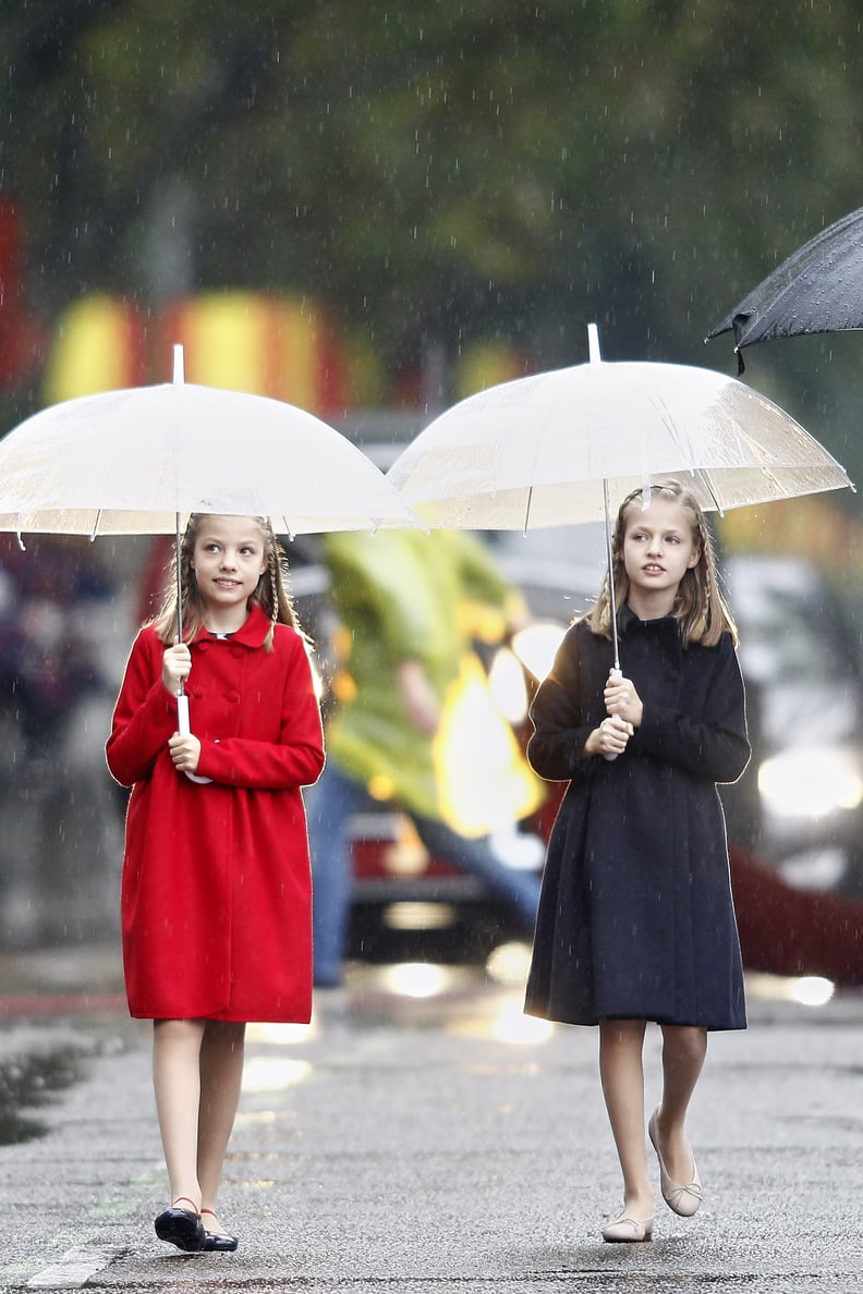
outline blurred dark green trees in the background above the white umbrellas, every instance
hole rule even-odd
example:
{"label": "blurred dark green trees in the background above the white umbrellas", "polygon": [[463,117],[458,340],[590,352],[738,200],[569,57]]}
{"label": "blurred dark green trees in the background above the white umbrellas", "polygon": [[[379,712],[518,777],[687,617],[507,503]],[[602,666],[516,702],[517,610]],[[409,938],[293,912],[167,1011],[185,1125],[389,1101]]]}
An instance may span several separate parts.
{"label": "blurred dark green trees in the background above the white umbrellas", "polygon": [[[859,45],[855,0],[4,0],[18,296],[50,327],[307,294],[393,383],[474,339],[580,362],[589,320],[608,358],[736,371],[706,331],[860,203]],[[859,344],[748,378],[863,479]]]}

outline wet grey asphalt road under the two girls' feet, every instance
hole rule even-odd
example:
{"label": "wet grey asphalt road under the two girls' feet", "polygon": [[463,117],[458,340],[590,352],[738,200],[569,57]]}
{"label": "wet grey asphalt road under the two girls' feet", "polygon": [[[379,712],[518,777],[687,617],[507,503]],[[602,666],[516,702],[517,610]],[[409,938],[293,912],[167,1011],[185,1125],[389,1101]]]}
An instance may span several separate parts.
{"label": "wet grey asphalt road under the two girls' feet", "polygon": [[[47,1075],[19,1112],[45,1135],[0,1146],[4,1291],[863,1290],[859,994],[807,1008],[753,982],[692,1110],[701,1212],[660,1200],[652,1244],[603,1245],[620,1185],[595,1031],[525,1022],[519,987],[476,970],[357,969],[308,1029],[250,1030],[221,1201],[241,1249],[186,1256],[153,1233],[149,1025],[101,981],[82,1009],[75,978],[0,1014],[6,1079],[34,1056]],[[657,1031],[646,1065],[656,1097]]]}

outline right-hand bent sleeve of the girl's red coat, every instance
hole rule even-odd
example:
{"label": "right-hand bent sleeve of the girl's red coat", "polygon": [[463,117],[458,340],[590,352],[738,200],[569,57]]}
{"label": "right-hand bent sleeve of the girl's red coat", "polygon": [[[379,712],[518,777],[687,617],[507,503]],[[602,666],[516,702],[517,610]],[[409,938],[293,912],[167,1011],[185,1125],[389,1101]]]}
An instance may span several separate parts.
{"label": "right-hand bent sleeve of the girl's red coat", "polygon": [[323,734],[312,666],[298,634],[286,633],[281,643],[289,653],[281,699],[267,697],[268,705],[281,707],[278,739],[202,738],[199,776],[259,791],[295,789],[317,782],[323,769]]}

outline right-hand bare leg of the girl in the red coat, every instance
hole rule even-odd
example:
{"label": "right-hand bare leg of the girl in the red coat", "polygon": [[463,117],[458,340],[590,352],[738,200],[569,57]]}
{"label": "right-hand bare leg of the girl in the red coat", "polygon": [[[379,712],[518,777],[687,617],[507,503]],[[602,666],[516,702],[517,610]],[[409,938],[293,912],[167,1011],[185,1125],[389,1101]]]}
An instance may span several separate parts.
{"label": "right-hand bare leg of the girl in the red coat", "polygon": [[243,1078],[246,1026],[208,1020],[201,1048],[201,1114],[198,1119],[198,1180],[208,1231],[220,1231],[216,1197],[228,1141],[234,1126]]}

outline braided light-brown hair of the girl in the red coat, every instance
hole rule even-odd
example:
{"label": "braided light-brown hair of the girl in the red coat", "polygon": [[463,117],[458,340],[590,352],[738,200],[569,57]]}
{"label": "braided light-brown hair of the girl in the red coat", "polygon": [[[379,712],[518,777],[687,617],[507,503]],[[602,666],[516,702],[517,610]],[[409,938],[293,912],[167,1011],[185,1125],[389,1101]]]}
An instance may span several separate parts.
{"label": "braided light-brown hair of the girl in the red coat", "polygon": [[[151,621],[159,639],[163,643],[173,643],[177,638],[177,563],[180,564],[180,581],[182,585],[182,641],[191,642],[203,626],[203,599],[198,587],[198,580],[191,565],[198,532],[203,521],[210,518],[208,512],[193,512],[189,518],[179,551],[175,550],[171,563],[171,580],[166,586],[162,609]],[[273,533],[273,527],[268,518],[256,516],[255,523],[260,527],[264,541],[264,555],[267,565],[261,572],[255,591],[248,599],[248,608],[257,606],[269,616],[269,631],[264,639],[264,650],[273,650],[273,633],[276,625],[290,625],[298,633],[303,633],[294,608],[294,600],[287,590],[287,558],[285,550]]]}

